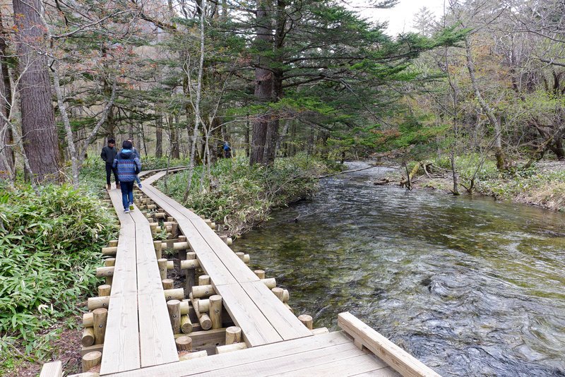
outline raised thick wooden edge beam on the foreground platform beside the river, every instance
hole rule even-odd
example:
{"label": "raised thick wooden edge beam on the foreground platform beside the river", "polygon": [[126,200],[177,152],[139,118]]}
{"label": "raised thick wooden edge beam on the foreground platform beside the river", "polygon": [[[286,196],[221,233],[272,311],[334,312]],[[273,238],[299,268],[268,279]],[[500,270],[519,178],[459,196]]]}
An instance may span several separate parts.
{"label": "raised thick wooden edge beam on the foreground platform beside the river", "polygon": [[377,357],[383,359],[386,364],[396,369],[401,375],[405,377],[441,377],[420,360],[377,333],[351,313],[340,313],[338,315],[338,325]]}

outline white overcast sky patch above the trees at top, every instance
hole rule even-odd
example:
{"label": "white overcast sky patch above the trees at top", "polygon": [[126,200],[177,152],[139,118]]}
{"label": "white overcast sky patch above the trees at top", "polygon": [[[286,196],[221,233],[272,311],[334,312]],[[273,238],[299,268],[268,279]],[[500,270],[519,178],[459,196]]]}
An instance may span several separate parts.
{"label": "white overcast sky patch above the trees at top", "polygon": [[[358,1],[357,4],[362,4]],[[367,9],[361,11],[362,16],[378,21],[388,21],[387,34],[397,35],[399,32],[415,31],[413,28],[414,16],[420,9],[429,9],[436,17],[444,14],[444,0],[400,0],[398,5],[391,9]]]}

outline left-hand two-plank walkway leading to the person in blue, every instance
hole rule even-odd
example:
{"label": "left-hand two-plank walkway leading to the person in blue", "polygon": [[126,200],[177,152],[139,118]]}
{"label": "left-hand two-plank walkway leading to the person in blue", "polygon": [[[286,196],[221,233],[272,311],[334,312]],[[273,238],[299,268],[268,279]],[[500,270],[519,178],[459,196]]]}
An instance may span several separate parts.
{"label": "left-hand two-plank walkway leading to the person in blue", "polygon": [[137,208],[124,213],[121,191],[109,195],[121,228],[101,375],[179,361],[149,222]]}

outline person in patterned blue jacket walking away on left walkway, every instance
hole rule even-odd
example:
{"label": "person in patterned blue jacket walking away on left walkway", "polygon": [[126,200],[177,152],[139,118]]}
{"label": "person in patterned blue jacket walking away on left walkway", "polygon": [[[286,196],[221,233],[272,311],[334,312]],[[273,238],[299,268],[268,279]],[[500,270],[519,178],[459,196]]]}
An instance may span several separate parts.
{"label": "person in patterned blue jacket walking away on left walkway", "polygon": [[133,148],[131,141],[124,141],[113,164],[118,169],[118,178],[121,184],[121,202],[124,204],[125,213],[133,210],[133,182],[136,181],[136,174],[141,170],[141,161],[133,154],[131,148]]}

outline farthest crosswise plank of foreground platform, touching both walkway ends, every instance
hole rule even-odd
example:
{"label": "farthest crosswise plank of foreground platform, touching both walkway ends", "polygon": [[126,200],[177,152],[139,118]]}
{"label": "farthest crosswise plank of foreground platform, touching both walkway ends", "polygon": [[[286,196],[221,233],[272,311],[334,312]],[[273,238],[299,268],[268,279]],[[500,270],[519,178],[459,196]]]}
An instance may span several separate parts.
{"label": "farthest crosswise plank of foreground platform, touching both walkway ends", "polygon": [[[261,347],[242,349],[237,352],[217,354],[201,359],[179,361],[162,366],[153,366],[141,371],[129,371],[115,373],[112,377],[182,377],[194,375],[207,371],[216,371],[225,367],[248,364],[255,361],[263,361],[264,365],[270,365],[270,360],[285,355],[299,355],[312,349],[326,349],[335,345],[351,343],[350,338],[341,332],[317,335],[315,337],[304,337],[287,342],[278,342]],[[190,372],[190,373],[189,373]]]}

